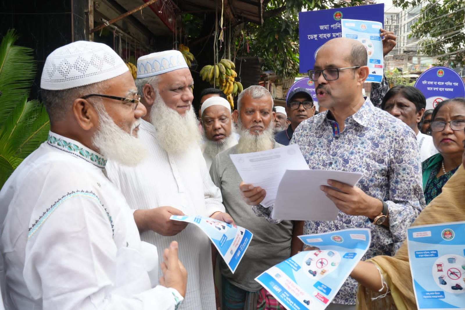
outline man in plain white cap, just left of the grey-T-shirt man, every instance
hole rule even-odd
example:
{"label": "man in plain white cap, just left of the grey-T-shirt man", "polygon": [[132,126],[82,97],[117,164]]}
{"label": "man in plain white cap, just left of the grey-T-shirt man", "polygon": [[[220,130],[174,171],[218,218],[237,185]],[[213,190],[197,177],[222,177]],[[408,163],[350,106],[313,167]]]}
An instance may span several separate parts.
{"label": "man in plain white cap, just left of the grey-T-shirt man", "polygon": [[233,135],[234,127],[231,118],[229,102],[221,97],[214,96],[203,102],[200,108],[205,135],[202,152],[206,166],[210,169],[213,158],[225,149],[237,144]]}

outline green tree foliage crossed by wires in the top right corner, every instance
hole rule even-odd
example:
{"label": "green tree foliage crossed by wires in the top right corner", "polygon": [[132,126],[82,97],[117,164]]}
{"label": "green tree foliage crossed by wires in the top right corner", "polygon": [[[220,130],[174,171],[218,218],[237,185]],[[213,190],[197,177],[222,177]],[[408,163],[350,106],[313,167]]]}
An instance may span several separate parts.
{"label": "green tree foliage crossed by wires in the top right corner", "polygon": [[465,65],[465,0],[393,0],[406,9],[420,3],[419,18],[412,25],[412,37],[419,37],[419,53],[439,56],[438,64]]}

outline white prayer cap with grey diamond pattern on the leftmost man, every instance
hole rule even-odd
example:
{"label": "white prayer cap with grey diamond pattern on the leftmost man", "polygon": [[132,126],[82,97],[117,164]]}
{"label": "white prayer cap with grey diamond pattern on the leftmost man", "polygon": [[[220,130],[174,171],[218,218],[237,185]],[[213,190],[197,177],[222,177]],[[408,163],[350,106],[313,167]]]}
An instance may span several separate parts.
{"label": "white prayer cap with grey diamond pattern on the leftmost man", "polygon": [[40,88],[62,90],[106,81],[128,67],[111,47],[103,43],[76,41],[48,55]]}

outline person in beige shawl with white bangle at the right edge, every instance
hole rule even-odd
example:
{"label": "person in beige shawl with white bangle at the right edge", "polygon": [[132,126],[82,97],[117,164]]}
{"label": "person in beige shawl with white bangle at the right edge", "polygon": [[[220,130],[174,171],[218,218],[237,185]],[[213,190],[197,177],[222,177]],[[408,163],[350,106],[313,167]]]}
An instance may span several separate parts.
{"label": "person in beige shawl with white bangle at the right edge", "polygon": [[[465,221],[465,154],[462,162],[445,183],[442,193],[420,213],[412,226]],[[406,242],[393,257],[376,256],[359,262],[351,276],[359,282],[358,310],[417,309]]]}

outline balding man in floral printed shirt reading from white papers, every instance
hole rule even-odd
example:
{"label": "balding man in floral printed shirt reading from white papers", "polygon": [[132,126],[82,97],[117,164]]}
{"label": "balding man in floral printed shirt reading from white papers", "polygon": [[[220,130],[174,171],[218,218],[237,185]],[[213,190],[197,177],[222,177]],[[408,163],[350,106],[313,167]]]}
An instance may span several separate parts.
{"label": "balding man in floral printed shirt reading from white papers", "polygon": [[[332,180],[328,184],[339,191],[321,186],[339,208],[338,218],[307,221],[304,234],[369,228],[372,244],[364,259],[393,255],[425,207],[414,133],[362,96],[369,73],[366,57],[365,47],[354,39],[336,38],[320,48],[309,77],[315,81],[319,105],[328,111],[303,121],[291,141],[311,169],[363,173],[355,187]],[[243,182],[240,189],[257,215],[272,220],[272,207],[259,205],[263,189]],[[355,309],[356,290],[355,280],[347,279],[326,309]]]}

